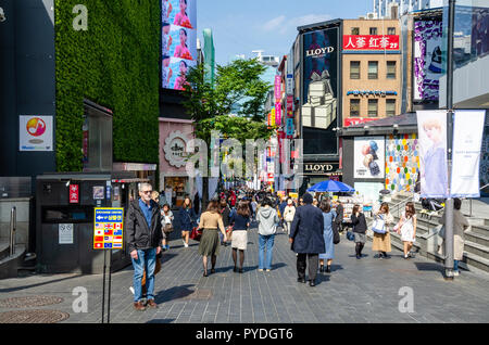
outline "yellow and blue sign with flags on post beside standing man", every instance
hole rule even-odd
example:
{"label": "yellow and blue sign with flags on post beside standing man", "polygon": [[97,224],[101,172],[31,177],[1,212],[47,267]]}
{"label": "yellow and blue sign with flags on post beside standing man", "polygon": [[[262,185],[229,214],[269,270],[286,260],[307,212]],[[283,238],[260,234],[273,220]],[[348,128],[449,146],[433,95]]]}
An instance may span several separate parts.
{"label": "yellow and blue sign with flags on post beside standing man", "polygon": [[122,250],[124,243],[124,208],[96,207],[93,250]]}

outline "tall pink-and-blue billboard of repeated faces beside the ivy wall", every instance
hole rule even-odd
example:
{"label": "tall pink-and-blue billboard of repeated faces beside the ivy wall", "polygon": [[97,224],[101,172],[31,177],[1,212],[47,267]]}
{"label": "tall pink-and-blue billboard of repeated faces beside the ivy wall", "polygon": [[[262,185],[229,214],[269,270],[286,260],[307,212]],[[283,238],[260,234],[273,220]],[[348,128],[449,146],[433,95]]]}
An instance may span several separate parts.
{"label": "tall pink-and-blue billboard of repeated faces beside the ivy wall", "polygon": [[197,65],[196,0],[161,0],[162,88],[184,90],[186,75]]}

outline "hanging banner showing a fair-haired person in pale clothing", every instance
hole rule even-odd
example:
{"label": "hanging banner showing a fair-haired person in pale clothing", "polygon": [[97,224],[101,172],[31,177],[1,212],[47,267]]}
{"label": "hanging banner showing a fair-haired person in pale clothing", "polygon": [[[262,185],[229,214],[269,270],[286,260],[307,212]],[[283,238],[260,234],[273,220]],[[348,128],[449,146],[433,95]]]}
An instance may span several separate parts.
{"label": "hanging banner showing a fair-haired person in pale clothing", "polygon": [[447,112],[418,111],[422,197],[448,196]]}

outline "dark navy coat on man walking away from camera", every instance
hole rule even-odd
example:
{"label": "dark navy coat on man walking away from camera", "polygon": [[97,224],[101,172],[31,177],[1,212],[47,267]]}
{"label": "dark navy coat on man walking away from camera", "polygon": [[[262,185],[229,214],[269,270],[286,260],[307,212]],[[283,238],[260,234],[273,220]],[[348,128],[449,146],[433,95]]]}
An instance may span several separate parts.
{"label": "dark navy coat on man walking away from camera", "polygon": [[325,253],[323,229],[324,217],[319,208],[311,204],[299,206],[290,227],[292,251],[306,254]]}

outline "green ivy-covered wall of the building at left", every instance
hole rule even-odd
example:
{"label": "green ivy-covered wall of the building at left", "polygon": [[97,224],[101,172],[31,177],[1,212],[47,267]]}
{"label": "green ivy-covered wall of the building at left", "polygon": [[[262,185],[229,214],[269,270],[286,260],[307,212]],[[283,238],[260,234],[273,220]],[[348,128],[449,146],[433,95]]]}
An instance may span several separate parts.
{"label": "green ivy-covered wall of the building at left", "polygon": [[54,0],[59,171],[83,168],[84,98],[113,111],[114,162],[158,163],[160,15],[154,0]]}

